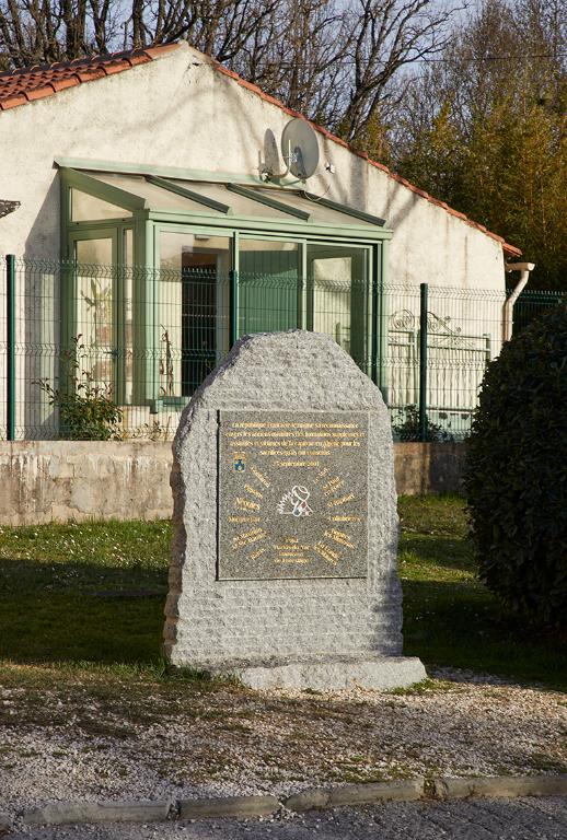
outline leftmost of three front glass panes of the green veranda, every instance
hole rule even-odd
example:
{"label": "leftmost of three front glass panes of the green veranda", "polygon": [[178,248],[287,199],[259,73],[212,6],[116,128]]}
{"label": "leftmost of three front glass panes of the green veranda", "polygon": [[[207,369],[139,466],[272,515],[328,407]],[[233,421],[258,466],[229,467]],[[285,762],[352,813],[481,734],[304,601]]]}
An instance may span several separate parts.
{"label": "leftmost of three front glass panes of the green veranda", "polygon": [[190,396],[229,349],[229,236],[160,233],[162,397]]}

